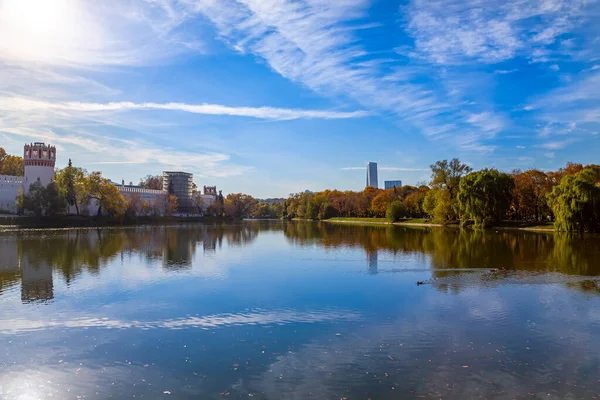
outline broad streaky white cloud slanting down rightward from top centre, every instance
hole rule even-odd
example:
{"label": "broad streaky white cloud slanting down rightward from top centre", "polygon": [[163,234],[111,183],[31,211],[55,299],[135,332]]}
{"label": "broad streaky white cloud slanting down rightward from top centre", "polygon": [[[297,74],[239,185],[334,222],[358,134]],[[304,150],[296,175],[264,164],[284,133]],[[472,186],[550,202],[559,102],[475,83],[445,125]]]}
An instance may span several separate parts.
{"label": "broad streaky white cloud slanting down rightward from top centre", "polygon": [[[430,68],[388,68],[387,56],[366,59],[370,53],[359,45],[355,31],[363,29],[362,19],[367,17],[370,3],[367,0],[184,3],[188,12],[201,13],[212,21],[219,37],[231,48],[260,57],[293,82],[326,96],[351,98],[369,109],[392,113],[403,127],[429,138],[478,136],[479,126],[469,124],[462,108],[436,90],[437,83],[424,82],[432,79]],[[415,74],[417,79],[413,79]]]}

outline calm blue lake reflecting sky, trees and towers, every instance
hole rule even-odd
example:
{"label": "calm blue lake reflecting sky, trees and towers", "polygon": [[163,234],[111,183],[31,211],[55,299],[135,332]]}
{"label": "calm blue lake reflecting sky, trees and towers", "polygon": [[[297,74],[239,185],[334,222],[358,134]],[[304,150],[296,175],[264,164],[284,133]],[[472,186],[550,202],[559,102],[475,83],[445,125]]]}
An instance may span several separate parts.
{"label": "calm blue lake reflecting sky, trees and towers", "polygon": [[597,236],[4,232],[0,398],[600,398],[599,276]]}

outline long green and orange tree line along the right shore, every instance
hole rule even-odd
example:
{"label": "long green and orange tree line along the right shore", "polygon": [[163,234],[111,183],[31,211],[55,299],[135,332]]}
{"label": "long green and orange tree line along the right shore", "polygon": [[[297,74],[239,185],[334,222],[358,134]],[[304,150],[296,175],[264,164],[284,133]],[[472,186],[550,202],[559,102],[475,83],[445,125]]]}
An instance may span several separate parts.
{"label": "long green and orange tree line along the right shore", "polygon": [[431,181],[389,190],[324,190],[291,195],[284,217],[357,223],[458,224],[556,231],[600,231],[600,166],[567,163],[557,171],[474,171],[459,159],[437,161]]}

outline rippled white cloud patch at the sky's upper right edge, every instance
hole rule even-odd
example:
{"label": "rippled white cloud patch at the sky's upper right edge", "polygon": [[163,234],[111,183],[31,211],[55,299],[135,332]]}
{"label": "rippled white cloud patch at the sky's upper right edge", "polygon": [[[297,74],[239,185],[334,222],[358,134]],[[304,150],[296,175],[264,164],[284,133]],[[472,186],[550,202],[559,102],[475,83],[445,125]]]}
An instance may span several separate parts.
{"label": "rippled white cloud patch at the sky's upper right edge", "polygon": [[[562,0],[414,0],[403,10],[415,55],[448,65],[518,55],[548,61],[547,48],[578,28],[586,6]],[[544,24],[534,22],[539,19]]]}

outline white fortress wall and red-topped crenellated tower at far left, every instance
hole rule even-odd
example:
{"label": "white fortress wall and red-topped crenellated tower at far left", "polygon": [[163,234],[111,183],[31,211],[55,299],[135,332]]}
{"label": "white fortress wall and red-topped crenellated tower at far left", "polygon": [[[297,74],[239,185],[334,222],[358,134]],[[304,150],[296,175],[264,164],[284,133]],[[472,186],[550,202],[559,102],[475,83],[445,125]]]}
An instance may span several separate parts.
{"label": "white fortress wall and red-topped crenellated tower at far left", "polygon": [[26,144],[23,151],[24,176],[0,175],[0,211],[16,213],[19,188],[27,193],[29,186],[40,182],[46,186],[54,181],[56,147],[41,142]]}

